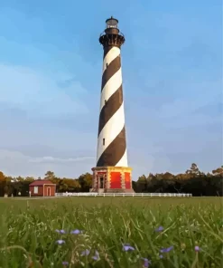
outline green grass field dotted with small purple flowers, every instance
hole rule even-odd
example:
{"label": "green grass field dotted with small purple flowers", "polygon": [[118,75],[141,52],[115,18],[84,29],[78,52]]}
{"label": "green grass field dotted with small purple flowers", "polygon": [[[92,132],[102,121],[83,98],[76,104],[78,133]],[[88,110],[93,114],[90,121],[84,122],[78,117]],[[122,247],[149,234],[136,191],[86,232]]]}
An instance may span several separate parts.
{"label": "green grass field dotted with small purple flowers", "polygon": [[2,268],[222,267],[221,197],[1,198],[0,213]]}

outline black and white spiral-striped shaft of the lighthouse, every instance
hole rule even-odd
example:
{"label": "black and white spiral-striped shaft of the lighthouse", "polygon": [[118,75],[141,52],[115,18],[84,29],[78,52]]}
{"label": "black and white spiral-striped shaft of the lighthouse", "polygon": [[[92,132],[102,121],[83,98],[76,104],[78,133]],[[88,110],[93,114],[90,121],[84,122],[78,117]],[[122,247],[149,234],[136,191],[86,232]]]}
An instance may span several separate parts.
{"label": "black and white spiral-striped shaft of the lighthouse", "polygon": [[97,167],[127,167],[120,48],[104,48]]}

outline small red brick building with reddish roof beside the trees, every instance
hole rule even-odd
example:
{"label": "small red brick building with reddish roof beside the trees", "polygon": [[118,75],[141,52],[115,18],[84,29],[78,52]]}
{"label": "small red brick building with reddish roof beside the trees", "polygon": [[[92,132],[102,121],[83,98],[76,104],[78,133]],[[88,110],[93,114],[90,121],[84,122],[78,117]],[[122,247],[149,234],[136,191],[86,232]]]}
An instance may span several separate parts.
{"label": "small red brick building with reddish roof beside the trees", "polygon": [[56,193],[56,184],[46,179],[34,180],[29,187],[31,196],[55,196]]}

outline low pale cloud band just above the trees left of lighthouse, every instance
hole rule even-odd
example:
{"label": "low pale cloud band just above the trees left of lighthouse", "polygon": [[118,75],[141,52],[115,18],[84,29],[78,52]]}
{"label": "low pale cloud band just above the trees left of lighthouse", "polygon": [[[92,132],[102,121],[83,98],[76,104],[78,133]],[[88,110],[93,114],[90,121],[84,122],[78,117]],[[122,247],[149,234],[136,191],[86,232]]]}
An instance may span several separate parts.
{"label": "low pale cloud band just above the trees left of lighthouse", "polygon": [[95,158],[32,158],[19,151],[0,149],[0,163],[0,170],[13,177],[42,177],[47,170],[53,171],[59,177],[79,177],[82,173],[91,172]]}

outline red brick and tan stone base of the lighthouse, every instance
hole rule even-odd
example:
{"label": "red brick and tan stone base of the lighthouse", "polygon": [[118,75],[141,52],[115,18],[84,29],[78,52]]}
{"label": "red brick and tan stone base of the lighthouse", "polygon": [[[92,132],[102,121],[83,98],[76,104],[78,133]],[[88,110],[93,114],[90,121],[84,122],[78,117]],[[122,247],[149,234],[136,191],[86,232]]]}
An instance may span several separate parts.
{"label": "red brick and tan stone base of the lighthouse", "polygon": [[92,168],[92,192],[134,193],[132,188],[132,168],[98,167]]}

